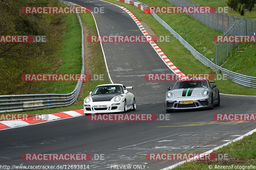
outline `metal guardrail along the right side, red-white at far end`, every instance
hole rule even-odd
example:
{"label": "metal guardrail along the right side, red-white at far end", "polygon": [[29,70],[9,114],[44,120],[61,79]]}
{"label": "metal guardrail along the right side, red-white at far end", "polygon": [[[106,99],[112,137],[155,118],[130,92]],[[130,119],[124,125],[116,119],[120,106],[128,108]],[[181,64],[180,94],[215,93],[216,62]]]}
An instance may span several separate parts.
{"label": "metal guardrail along the right side, red-white at far end", "polygon": [[[216,64],[212,63],[204,55],[202,55],[201,53],[196,51],[185,39],[183,39],[177,32],[175,32],[170,27],[170,25],[168,25],[166,22],[164,22],[163,19],[161,19],[156,13],[154,13],[154,11],[151,11],[147,5],[142,4],[141,2],[135,1],[135,0],[116,0],[116,1],[125,2],[126,4],[133,4],[134,6],[136,6],[137,8],[139,8],[140,10],[142,10],[144,12],[147,9],[145,13],[151,13],[153,15],[153,17],[161,25],[163,25],[168,31],[170,31],[171,34],[176,39],[178,39],[180,41],[180,43],[182,45],[184,45],[196,57],[196,59],[201,61],[205,66],[212,68],[215,72],[223,74],[224,76],[226,76],[227,78],[229,78],[230,80],[232,80],[238,84],[241,84],[241,85],[244,85],[247,87],[256,88],[256,77],[235,73],[233,71],[227,70],[225,68],[222,68],[222,67],[217,66]],[[149,10],[149,12],[148,12],[148,10]]]}

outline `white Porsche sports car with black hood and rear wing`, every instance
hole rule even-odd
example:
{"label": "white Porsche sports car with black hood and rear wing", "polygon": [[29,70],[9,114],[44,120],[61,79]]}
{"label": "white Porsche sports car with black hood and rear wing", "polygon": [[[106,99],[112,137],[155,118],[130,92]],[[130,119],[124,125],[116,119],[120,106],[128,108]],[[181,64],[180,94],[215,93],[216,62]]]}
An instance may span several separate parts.
{"label": "white Porsche sports car with black hood and rear wing", "polygon": [[123,84],[103,84],[90,92],[84,99],[84,114],[126,112],[136,110],[134,95]]}

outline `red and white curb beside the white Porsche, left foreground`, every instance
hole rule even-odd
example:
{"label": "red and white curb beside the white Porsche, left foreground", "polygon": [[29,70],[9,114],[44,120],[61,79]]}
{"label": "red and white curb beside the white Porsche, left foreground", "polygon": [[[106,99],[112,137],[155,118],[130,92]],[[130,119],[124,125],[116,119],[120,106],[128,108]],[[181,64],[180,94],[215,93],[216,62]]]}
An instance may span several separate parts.
{"label": "red and white curb beside the white Porsche, left foreground", "polygon": [[61,118],[81,116],[81,115],[84,115],[83,109],[63,111],[59,113],[45,114],[45,115],[39,115],[39,116],[27,117],[22,119],[15,119],[15,120],[4,120],[4,121],[0,121],[0,129],[8,129],[8,128],[13,128],[17,126],[36,124],[36,123],[47,122],[47,121],[61,119]]}

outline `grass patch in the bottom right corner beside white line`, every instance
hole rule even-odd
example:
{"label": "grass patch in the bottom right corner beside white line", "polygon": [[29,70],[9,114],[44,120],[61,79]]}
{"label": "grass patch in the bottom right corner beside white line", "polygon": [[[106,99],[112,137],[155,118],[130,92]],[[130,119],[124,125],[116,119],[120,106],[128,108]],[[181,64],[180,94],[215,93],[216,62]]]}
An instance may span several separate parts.
{"label": "grass patch in the bottom right corner beside white line", "polygon": [[[209,169],[209,165],[212,165],[212,169],[215,166],[256,166],[256,133],[246,136],[243,139],[232,142],[213,153],[228,154],[227,160],[211,160],[211,161],[191,161],[186,162],[180,166],[173,168],[173,170],[205,170]],[[218,168],[224,169],[224,168]],[[226,168],[227,169],[227,168]]]}

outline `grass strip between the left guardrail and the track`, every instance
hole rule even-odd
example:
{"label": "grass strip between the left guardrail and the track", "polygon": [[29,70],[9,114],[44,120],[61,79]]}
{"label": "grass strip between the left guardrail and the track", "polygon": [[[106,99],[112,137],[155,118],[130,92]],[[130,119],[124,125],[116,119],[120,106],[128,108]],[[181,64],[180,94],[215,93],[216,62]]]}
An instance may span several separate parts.
{"label": "grass strip between the left guardrail and the track", "polygon": [[[92,14],[80,14],[80,17],[81,17],[84,27],[86,28],[86,30],[84,29],[84,32],[87,32],[88,35],[98,35]],[[77,18],[76,18],[76,20],[77,20]],[[72,20],[70,21],[70,24],[72,25]],[[73,32],[73,34],[70,34],[70,36],[72,35],[73,37],[80,38],[80,36],[81,36],[80,25],[76,25],[76,26],[79,29],[79,32],[77,32],[76,34],[72,31],[72,29],[70,29],[68,31]],[[90,43],[87,41],[86,36],[84,36],[84,39],[85,39],[84,43],[87,43],[86,49],[84,49],[84,50],[90,51],[90,53],[87,53],[88,56],[85,56],[85,62],[86,62],[85,66],[87,66],[87,68],[85,68],[85,70],[90,71],[90,74],[105,74],[106,75],[106,68],[105,68],[105,64],[104,64],[103,54],[102,54],[102,51],[100,48],[100,43]],[[70,43],[72,43],[72,42],[70,42]],[[69,44],[69,42],[66,42],[66,44]],[[66,44],[64,46],[66,46]],[[76,46],[79,47],[79,50],[80,50],[79,56],[81,58],[81,45],[77,45],[77,43],[76,43]],[[67,55],[71,55],[71,56],[74,55],[72,53],[72,50],[68,50],[67,53],[68,53]],[[69,62],[69,60],[67,60],[66,62]],[[77,63],[77,64],[79,64],[79,63]],[[66,67],[66,68],[68,69],[68,67]],[[87,72],[85,72],[85,74],[87,74]],[[63,111],[69,111],[69,110],[83,109],[84,98],[89,95],[90,91],[92,91],[96,86],[98,86],[100,84],[109,84],[109,81],[108,80],[84,81],[77,101],[67,107],[57,107],[57,108],[41,109],[41,110],[28,110],[28,111],[24,111],[24,112],[10,112],[10,113],[13,113],[13,114],[17,114],[17,113],[25,114],[26,113],[26,114],[32,114],[32,115],[41,115],[41,114],[49,114],[49,113],[63,112]]]}

